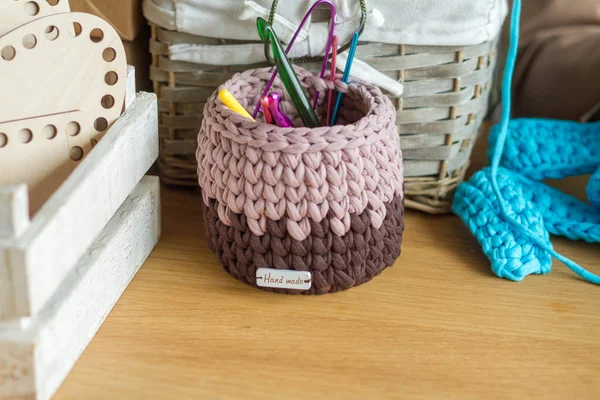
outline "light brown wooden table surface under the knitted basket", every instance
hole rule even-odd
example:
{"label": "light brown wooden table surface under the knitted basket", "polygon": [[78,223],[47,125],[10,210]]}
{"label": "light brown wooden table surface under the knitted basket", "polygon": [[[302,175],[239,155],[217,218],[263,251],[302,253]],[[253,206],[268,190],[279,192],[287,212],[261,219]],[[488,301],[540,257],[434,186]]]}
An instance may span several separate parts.
{"label": "light brown wooden table surface under the knitted basket", "polygon": [[[276,295],[219,267],[200,201],[163,189],[162,240],[57,400],[600,398],[600,288],[558,262],[501,280],[458,218],[408,212],[371,283]],[[600,246],[554,244],[600,272]]]}

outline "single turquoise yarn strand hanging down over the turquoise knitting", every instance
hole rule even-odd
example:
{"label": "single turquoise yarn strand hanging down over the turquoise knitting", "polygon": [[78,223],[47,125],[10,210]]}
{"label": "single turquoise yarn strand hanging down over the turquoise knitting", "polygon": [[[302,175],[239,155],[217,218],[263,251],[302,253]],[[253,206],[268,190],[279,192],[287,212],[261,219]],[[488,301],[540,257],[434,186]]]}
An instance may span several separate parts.
{"label": "single turquoise yarn strand hanging down over the turquoise knitting", "polygon": [[511,96],[512,96],[512,83],[513,83],[513,75],[515,70],[515,64],[517,60],[517,52],[518,52],[518,44],[519,44],[519,21],[521,18],[521,0],[515,0],[513,3],[513,11],[511,16],[511,26],[510,26],[510,46],[508,51],[508,57],[504,69],[504,79],[502,83],[502,121],[500,124],[500,133],[498,134],[498,138],[494,147],[492,163],[491,163],[491,185],[494,196],[497,199],[501,217],[504,221],[510,224],[517,232],[520,234],[530,238],[535,245],[539,246],[544,251],[548,252],[552,257],[557,259],[558,261],[565,264],[571,271],[579,275],[581,278],[600,285],[600,276],[595,275],[574,261],[568,259],[567,257],[556,252],[548,242],[538,235],[532,233],[529,229],[525,228],[518,221],[513,219],[507,210],[506,203],[502,197],[502,193],[500,192],[500,188],[498,187],[498,168],[500,166],[500,161],[502,158],[502,153],[506,144],[506,139],[508,137],[508,125],[510,121],[511,115]]}

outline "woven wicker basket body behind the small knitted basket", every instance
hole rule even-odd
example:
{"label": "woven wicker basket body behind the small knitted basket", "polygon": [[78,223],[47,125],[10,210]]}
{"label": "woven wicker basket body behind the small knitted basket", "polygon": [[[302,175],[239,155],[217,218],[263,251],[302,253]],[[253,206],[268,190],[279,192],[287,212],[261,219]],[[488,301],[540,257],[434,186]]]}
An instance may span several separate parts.
{"label": "woven wicker basket body behind the small knitted basket", "polygon": [[[160,159],[166,183],[196,186],[196,135],[202,109],[215,88],[235,72],[263,65],[213,66],[173,61],[169,45],[223,45],[152,26],[151,79],[159,98]],[[487,114],[496,46],[434,47],[361,43],[357,57],[404,84],[393,98],[401,135],[408,208],[450,212]],[[319,64],[303,64],[317,71]]]}

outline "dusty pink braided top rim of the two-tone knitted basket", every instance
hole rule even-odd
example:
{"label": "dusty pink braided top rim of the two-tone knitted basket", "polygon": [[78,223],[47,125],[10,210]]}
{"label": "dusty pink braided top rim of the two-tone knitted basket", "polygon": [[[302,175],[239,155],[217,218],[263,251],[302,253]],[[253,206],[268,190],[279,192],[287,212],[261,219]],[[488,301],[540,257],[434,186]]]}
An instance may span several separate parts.
{"label": "dusty pink braided top rim of the two-tone knitted basket", "polygon": [[[355,148],[364,145],[365,141],[376,142],[387,135],[385,128],[389,124],[395,124],[395,109],[388,97],[378,87],[360,81],[353,81],[346,85],[339,79],[335,84],[332,84],[302,68],[295,67],[295,69],[310,96],[315,90],[325,93],[330,88],[335,87],[336,90],[345,93],[345,96],[350,99],[363,101],[366,105],[369,105],[369,112],[354,123],[333,127],[280,128],[261,121],[253,122],[231,111],[221,102],[217,93],[220,89],[228,89],[234,97],[247,106],[246,108],[250,108],[249,105],[258,101],[264,78],[269,76],[272,71],[271,68],[260,68],[235,74],[230,80],[221,85],[208,99],[204,109],[205,117],[207,114],[216,115],[218,122],[224,127],[219,133],[233,142],[261,148],[265,151],[281,151],[293,154]],[[244,97],[240,94],[240,87],[247,90],[249,85],[253,86],[251,91],[254,94]],[[283,92],[286,96],[285,90]],[[247,97],[254,97],[254,99],[248,101]],[[324,95],[319,97],[320,99],[326,99]],[[321,103],[323,100],[319,101]],[[216,113],[212,113],[213,110]]]}

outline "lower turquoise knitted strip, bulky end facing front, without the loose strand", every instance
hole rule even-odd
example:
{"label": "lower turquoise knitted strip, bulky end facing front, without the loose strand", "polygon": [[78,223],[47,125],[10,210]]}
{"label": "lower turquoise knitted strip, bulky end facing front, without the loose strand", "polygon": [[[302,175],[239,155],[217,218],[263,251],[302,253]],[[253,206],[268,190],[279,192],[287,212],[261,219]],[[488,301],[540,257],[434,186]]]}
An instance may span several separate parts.
{"label": "lower turquoise knitted strip, bulky end facing front, without the loose strand", "polygon": [[[490,174],[491,169],[485,168],[458,187],[454,212],[480,239],[484,252],[492,261],[492,269],[498,275],[497,271],[503,269],[499,265],[507,262],[506,254],[516,251],[515,244],[527,248],[527,253],[523,254],[536,254],[544,258],[545,262],[540,264],[543,268],[535,273],[550,271],[550,256],[531,253],[529,238],[511,232],[510,226],[499,218],[498,200],[491,188]],[[548,241],[548,233],[571,240],[600,243],[600,210],[505,168],[498,169],[497,180],[504,201],[510,204],[509,214],[521,225],[543,237],[548,246],[552,246]],[[514,239],[515,236],[519,239]],[[514,268],[518,262],[514,256],[510,258]],[[530,260],[524,263],[528,264]],[[503,277],[508,278],[505,275]]]}

